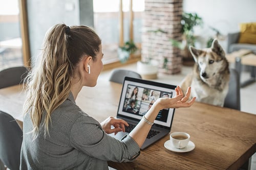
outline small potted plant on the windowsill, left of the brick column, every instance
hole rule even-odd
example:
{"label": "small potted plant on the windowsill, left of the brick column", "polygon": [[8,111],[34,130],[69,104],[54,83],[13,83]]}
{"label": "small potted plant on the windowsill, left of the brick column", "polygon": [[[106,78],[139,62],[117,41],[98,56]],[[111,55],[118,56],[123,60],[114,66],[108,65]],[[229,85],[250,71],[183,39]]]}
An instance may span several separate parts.
{"label": "small potted plant on the windowsill, left of the brick column", "polygon": [[123,46],[118,47],[118,58],[121,63],[125,63],[130,55],[138,50],[137,46],[131,41],[126,41]]}

